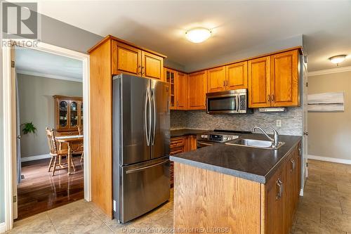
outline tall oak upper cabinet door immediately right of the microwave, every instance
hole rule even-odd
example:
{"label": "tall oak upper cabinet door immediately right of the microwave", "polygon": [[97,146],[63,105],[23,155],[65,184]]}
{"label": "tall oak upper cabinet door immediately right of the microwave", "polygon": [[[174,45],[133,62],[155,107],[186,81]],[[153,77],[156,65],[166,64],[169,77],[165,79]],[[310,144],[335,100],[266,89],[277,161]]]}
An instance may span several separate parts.
{"label": "tall oak upper cabinet door immediately right of the microwave", "polygon": [[270,107],[270,57],[249,60],[249,108]]}

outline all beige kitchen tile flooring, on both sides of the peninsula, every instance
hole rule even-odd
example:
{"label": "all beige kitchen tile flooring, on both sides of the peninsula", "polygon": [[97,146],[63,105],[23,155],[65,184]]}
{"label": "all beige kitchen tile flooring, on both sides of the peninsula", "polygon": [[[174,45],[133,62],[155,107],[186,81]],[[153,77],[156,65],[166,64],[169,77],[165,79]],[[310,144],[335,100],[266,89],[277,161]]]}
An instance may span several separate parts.
{"label": "all beige kitchen tile flooring, on both sides of the peninsula", "polygon": [[[140,219],[120,225],[79,200],[15,222],[8,233],[168,233],[173,197]],[[351,234],[351,165],[309,160],[309,178],[291,233]]]}

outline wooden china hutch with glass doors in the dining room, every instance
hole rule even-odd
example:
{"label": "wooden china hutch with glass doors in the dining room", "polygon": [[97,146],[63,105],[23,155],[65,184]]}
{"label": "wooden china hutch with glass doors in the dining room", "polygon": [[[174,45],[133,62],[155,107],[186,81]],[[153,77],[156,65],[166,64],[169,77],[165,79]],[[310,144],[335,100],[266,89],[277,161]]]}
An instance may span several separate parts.
{"label": "wooden china hutch with glass doors in the dining room", "polygon": [[53,96],[55,100],[56,131],[83,129],[83,98]]}

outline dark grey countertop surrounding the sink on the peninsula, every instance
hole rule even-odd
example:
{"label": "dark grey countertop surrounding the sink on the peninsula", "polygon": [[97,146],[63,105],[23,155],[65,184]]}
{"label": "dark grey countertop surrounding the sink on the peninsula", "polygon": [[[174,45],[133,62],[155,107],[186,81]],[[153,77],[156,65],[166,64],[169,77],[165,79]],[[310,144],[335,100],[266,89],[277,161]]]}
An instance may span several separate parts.
{"label": "dark grey countertop surrounding the sink on the peninsula", "polygon": [[[241,138],[267,140],[263,134],[238,135]],[[170,160],[259,183],[267,183],[280,164],[284,162],[284,157],[289,155],[301,139],[301,136],[281,135],[279,141],[283,141],[285,144],[278,150],[247,148],[220,143],[172,155]]]}

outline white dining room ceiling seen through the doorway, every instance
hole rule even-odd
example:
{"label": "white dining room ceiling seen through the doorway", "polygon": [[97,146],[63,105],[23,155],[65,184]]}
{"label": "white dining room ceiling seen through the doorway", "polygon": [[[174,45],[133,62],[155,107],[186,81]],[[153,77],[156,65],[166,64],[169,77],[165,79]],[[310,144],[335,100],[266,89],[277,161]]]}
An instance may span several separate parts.
{"label": "white dining room ceiling seen through the doorway", "polygon": [[16,48],[15,63],[18,73],[76,82],[83,80],[83,64],[80,60],[54,53]]}

